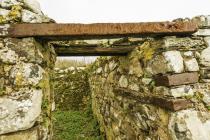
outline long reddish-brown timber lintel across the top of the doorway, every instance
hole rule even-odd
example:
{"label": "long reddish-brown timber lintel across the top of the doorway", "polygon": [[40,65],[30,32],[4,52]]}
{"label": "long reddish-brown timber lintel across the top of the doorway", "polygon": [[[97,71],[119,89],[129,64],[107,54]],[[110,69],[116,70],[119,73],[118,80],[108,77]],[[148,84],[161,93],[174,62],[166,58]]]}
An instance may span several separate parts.
{"label": "long reddish-brown timber lintel across the top of the doorway", "polygon": [[186,35],[198,30],[192,22],[11,24],[0,27],[0,37],[40,37],[50,40],[132,35]]}

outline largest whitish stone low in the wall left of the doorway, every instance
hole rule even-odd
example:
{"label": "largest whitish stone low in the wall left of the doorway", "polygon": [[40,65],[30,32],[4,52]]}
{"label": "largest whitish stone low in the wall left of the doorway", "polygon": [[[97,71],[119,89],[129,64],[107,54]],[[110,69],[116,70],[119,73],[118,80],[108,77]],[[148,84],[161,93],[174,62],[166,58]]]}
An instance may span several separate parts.
{"label": "largest whitish stone low in the wall left of the doorway", "polygon": [[41,113],[42,90],[21,89],[0,98],[0,134],[31,128]]}

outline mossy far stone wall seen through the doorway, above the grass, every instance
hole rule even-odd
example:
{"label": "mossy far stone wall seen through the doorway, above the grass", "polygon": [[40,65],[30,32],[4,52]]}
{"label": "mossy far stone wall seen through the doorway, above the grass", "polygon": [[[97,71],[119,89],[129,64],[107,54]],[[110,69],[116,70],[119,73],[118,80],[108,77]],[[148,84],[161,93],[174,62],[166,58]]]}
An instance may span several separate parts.
{"label": "mossy far stone wall seen through the doorway, above the grass", "polygon": [[90,102],[90,87],[85,67],[56,68],[54,93],[57,110],[85,110]]}

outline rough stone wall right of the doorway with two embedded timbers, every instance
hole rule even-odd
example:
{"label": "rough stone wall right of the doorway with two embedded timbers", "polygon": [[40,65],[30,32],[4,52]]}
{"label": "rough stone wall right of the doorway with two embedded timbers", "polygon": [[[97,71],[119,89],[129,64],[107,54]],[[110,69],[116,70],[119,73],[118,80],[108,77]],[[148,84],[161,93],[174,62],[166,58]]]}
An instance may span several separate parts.
{"label": "rough stone wall right of the doorway with two embedded timbers", "polygon": [[193,35],[118,39],[138,47],[91,65],[92,108],[108,140],[210,139],[209,19],[193,18]]}

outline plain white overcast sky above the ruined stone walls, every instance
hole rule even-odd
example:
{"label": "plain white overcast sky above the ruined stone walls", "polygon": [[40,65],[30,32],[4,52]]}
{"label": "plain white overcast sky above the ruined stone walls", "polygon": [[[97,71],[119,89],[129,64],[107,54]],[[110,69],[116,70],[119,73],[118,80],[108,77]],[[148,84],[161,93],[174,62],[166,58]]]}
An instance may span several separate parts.
{"label": "plain white overcast sky above the ruined stone walls", "polygon": [[210,0],[39,0],[57,22],[143,22],[210,15]]}

